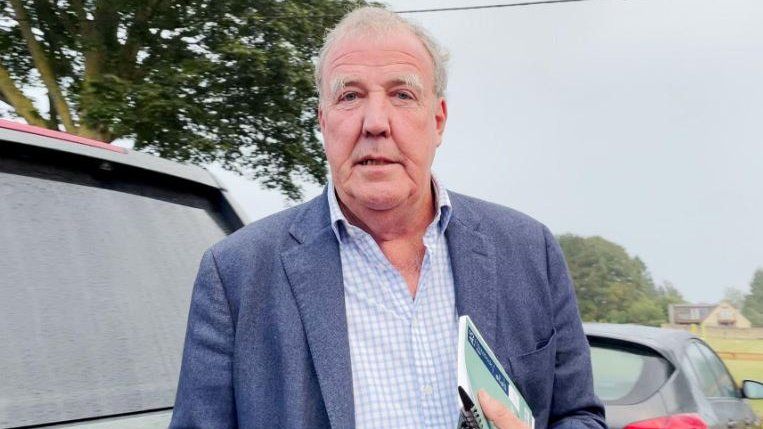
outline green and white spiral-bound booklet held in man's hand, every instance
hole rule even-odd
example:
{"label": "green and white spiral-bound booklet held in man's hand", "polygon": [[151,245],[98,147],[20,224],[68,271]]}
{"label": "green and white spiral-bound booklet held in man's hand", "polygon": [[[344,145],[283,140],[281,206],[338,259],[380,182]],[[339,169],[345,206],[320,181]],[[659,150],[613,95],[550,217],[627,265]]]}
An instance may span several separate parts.
{"label": "green and white spiral-bound booklet held in man's hand", "polygon": [[482,413],[477,399],[480,390],[500,401],[534,429],[532,410],[469,316],[458,319],[458,386],[462,406],[459,429],[495,429]]}

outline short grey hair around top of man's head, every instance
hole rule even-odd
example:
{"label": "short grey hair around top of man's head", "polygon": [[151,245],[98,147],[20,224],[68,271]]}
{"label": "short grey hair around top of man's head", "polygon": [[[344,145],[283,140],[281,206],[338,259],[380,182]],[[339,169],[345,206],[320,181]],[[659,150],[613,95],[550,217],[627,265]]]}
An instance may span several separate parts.
{"label": "short grey hair around top of man's head", "polygon": [[448,52],[418,24],[402,18],[398,14],[381,7],[362,7],[355,9],[342,18],[341,21],[326,35],[326,39],[318,53],[315,64],[315,86],[319,99],[322,100],[321,83],[323,80],[323,64],[326,56],[334,45],[342,38],[354,35],[385,36],[400,29],[407,29],[416,36],[432,58],[434,70],[434,92],[437,97],[445,96],[448,85]]}

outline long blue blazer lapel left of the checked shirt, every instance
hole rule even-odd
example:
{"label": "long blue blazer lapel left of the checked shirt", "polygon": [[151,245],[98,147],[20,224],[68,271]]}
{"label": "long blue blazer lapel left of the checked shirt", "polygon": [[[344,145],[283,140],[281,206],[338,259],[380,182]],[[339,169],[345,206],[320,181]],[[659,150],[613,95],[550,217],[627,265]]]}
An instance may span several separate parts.
{"label": "long blue blazer lapel left of the checked shirt", "polygon": [[298,216],[300,244],[281,255],[302,318],[326,412],[335,428],[353,427],[354,404],[339,245],[325,192]]}

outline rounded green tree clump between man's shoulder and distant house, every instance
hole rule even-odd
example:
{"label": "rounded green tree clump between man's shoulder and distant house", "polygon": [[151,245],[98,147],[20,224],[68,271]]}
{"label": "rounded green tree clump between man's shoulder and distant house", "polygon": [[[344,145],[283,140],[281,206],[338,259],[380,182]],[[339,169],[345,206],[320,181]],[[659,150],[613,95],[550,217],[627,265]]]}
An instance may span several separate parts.
{"label": "rounded green tree clump between man's shoulder and distant house", "polygon": [[667,304],[683,301],[670,284],[656,288],[646,265],[622,246],[601,237],[558,239],[585,321],[659,325],[667,320]]}

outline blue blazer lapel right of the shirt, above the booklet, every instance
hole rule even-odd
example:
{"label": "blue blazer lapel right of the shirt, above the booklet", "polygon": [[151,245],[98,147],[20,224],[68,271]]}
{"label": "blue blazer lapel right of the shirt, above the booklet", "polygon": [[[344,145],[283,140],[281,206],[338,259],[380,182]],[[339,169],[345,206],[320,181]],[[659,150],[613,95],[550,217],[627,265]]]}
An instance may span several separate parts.
{"label": "blue blazer lapel right of the shirt, above the booklet", "polygon": [[[456,310],[468,315],[488,344],[495,344],[498,311],[495,246],[479,231],[479,215],[468,201],[449,193],[453,217],[445,237],[456,286]],[[494,346],[493,346],[494,347]]]}

